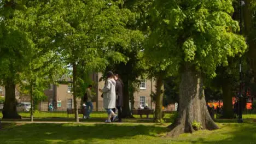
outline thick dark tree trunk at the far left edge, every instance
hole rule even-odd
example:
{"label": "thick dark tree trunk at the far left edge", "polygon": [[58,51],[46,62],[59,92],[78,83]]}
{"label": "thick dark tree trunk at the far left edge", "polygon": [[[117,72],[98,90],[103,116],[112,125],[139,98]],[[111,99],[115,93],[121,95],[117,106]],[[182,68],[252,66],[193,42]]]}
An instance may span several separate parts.
{"label": "thick dark tree trunk at the far left edge", "polygon": [[2,113],[3,118],[21,118],[16,108],[15,84],[12,82],[5,85],[5,101]]}

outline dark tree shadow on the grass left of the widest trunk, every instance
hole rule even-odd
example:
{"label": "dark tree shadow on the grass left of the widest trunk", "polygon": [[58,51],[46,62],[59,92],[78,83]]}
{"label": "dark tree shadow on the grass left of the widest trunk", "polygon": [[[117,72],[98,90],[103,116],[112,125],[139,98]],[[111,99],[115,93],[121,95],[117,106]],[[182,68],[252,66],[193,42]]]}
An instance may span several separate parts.
{"label": "dark tree shadow on the grass left of the widest trunk", "polygon": [[167,132],[165,127],[153,125],[117,124],[23,124],[0,133],[0,143],[91,143],[97,140],[129,139],[136,135],[158,136]]}

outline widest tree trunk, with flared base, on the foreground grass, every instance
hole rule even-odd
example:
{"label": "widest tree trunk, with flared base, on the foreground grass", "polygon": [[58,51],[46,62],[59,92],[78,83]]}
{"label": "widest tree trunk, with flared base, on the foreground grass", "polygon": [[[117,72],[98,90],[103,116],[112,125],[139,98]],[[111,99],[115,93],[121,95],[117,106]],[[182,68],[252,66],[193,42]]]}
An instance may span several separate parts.
{"label": "widest tree trunk, with flared base, on the foreground grass", "polygon": [[201,75],[191,67],[186,67],[179,86],[179,116],[176,122],[168,126],[169,136],[193,133],[193,123],[200,123],[200,129],[218,129],[206,107]]}

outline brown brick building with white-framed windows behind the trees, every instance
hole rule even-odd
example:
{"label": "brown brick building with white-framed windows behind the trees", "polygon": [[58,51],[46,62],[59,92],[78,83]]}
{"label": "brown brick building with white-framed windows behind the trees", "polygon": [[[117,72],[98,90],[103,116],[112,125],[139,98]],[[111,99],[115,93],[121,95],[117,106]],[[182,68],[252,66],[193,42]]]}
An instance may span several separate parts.
{"label": "brown brick building with white-framed windows behind the trees", "polygon": [[[93,73],[90,75],[93,83],[95,95],[95,101],[93,102],[94,110],[101,111],[103,108],[103,98],[101,98],[101,92],[98,91],[99,88],[104,87],[104,81],[101,81],[102,74],[101,73]],[[45,95],[48,96],[48,101],[42,102],[40,104],[41,111],[47,111],[48,105],[51,103],[54,105],[54,108],[57,111],[66,111],[67,109],[74,108],[73,95],[71,92],[72,89],[72,80],[66,79],[65,84],[59,85],[50,85],[49,89],[44,91]],[[139,86],[139,91],[134,93],[135,104],[134,108],[138,108],[139,105],[144,107],[146,104],[154,109],[154,103],[152,103],[152,99],[150,97],[151,92],[155,92],[155,81],[153,80],[142,80],[141,85]],[[80,98],[77,99],[78,106],[80,106]]]}

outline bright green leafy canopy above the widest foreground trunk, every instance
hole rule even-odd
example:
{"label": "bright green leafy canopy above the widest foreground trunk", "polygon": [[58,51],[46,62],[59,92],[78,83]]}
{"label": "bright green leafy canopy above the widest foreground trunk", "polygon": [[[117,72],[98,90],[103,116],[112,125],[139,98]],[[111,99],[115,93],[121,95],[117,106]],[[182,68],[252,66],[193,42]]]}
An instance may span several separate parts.
{"label": "bright green leafy canopy above the widest foreground trunk", "polygon": [[151,27],[148,49],[157,61],[171,62],[173,73],[189,64],[214,77],[218,65],[247,49],[233,12],[231,0],[155,1],[152,16],[159,23]]}

